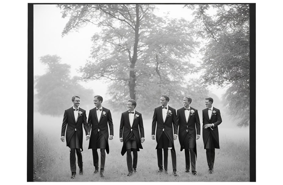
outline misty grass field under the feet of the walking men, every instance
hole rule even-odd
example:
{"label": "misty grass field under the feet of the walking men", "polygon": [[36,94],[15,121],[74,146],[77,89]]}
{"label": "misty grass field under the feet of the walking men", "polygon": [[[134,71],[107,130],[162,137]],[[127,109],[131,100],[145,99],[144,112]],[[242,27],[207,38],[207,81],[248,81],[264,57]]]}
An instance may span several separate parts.
{"label": "misty grass field under the feet of the walking men", "polygon": [[[119,141],[119,124],[114,122],[114,139],[109,141],[110,152],[106,154],[104,178],[94,174],[92,152],[88,150],[88,141],[83,141],[83,170],[84,174],[78,174],[71,179],[69,149],[66,142],[60,140],[62,118],[38,116],[34,118],[34,134],[40,135],[35,140],[46,140],[46,155],[54,155],[51,165],[48,165],[44,172],[38,174],[40,181],[46,182],[249,182],[249,140],[247,137],[235,136],[235,129],[231,132],[220,128],[220,149],[216,149],[214,173],[208,173],[206,152],[203,148],[202,137],[197,140],[198,158],[196,162],[197,176],[185,173],[184,151],[180,152],[178,139],[174,141],[177,153],[177,173],[179,177],[172,174],[171,153],[168,155],[168,174],[157,173],[156,141],[150,138],[151,120],[144,118],[145,142],[143,148],[138,152],[137,173],[127,177],[126,155],[120,154],[122,143]],[[113,115],[113,120],[120,120],[120,115]],[[220,125],[221,126],[221,125]],[[243,130],[242,132],[246,132]],[[40,138],[41,137],[41,138]],[[38,147],[35,146],[34,147]],[[34,148],[35,150],[36,148]],[[34,156],[37,158],[38,156]],[[100,157],[100,155],[99,155]],[[99,161],[100,165],[100,161]]]}

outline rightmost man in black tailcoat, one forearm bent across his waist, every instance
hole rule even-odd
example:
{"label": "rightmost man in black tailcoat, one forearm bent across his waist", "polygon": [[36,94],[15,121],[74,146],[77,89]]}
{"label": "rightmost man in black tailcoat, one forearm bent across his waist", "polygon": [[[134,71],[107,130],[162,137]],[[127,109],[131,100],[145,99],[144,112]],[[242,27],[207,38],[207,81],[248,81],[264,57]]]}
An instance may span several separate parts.
{"label": "rightmost man in black tailcoat, one forearm bent across his waist", "polygon": [[220,149],[218,125],[222,122],[220,110],[212,106],[213,99],[206,98],[206,109],[202,110],[202,138],[204,149],[206,149],[206,159],[208,164],[208,172],[212,173],[215,148]]}

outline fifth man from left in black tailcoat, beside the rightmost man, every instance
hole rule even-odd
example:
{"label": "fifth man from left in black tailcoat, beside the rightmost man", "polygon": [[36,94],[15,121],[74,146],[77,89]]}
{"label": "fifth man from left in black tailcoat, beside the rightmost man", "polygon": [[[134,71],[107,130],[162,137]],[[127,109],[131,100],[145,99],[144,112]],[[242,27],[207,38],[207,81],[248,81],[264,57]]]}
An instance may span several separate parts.
{"label": "fifth man from left in black tailcoat, beside the rightmost man", "polygon": [[200,137],[200,122],[198,110],[190,106],[192,98],[184,97],[184,107],[177,110],[177,125],[179,126],[178,136],[181,150],[185,149],[186,171],[190,171],[190,155],[192,163],[192,174],[196,175],[196,140]]}

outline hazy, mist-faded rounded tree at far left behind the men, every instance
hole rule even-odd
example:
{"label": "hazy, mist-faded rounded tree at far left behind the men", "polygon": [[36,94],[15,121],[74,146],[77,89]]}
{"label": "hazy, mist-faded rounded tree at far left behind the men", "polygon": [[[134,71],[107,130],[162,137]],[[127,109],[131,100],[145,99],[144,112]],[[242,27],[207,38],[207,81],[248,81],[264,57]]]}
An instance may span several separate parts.
{"label": "hazy, mist-faded rounded tree at far left behind the men", "polygon": [[64,109],[72,104],[71,98],[74,95],[81,97],[81,103],[93,101],[93,90],[81,86],[78,83],[79,77],[70,78],[70,65],[60,64],[60,57],[45,55],[40,61],[47,66],[47,71],[44,75],[35,77],[39,113],[62,115]]}

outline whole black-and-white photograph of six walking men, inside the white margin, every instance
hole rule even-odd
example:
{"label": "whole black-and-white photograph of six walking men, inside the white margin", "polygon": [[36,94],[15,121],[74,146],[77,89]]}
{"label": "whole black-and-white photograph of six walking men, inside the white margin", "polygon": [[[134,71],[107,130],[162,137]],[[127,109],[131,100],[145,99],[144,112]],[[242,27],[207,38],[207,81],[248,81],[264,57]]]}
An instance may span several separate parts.
{"label": "whole black-and-white photograph of six walking men, inside the white margin", "polygon": [[32,181],[255,181],[255,4],[29,11]]}

